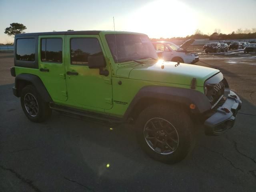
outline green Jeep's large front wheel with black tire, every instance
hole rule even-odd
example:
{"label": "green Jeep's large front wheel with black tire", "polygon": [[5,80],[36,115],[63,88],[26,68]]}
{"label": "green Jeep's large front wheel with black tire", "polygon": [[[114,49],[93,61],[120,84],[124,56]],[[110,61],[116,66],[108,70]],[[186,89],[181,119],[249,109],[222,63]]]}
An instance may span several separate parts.
{"label": "green Jeep's large front wheel with black tire", "polygon": [[137,139],[146,154],[164,163],[184,159],[193,145],[193,123],[177,106],[154,104],[136,120]]}

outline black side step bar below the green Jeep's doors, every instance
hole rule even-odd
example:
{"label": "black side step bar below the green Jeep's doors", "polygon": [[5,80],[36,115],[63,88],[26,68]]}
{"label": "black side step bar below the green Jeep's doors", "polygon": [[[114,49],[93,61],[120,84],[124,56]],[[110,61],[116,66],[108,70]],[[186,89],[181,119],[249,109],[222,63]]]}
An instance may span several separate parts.
{"label": "black side step bar below the green Jeep's doors", "polygon": [[98,121],[109,122],[114,124],[125,123],[125,121],[122,118],[117,118],[117,117],[108,116],[104,114],[98,114],[95,112],[89,112],[89,111],[80,110],[80,109],[74,109],[66,106],[57,105],[54,103],[50,103],[50,108],[52,110],[56,110],[59,112],[73,114],[77,116],[83,116],[83,117],[98,120]]}

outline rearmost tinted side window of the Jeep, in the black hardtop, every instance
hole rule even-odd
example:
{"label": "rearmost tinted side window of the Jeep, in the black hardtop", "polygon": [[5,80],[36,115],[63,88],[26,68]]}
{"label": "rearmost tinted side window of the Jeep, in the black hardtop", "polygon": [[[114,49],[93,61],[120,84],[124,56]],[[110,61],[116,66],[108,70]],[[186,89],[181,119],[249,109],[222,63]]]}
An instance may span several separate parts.
{"label": "rearmost tinted side window of the Jeep, in the black hardtop", "polygon": [[34,61],[36,42],[35,39],[17,39],[16,41],[16,60]]}

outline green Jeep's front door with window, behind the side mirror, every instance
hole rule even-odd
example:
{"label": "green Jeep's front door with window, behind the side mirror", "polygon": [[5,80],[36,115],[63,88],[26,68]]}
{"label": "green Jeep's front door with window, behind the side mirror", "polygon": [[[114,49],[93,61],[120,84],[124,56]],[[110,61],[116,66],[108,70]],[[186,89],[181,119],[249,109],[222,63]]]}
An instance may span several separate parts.
{"label": "green Jeep's front door with window, behind the side mirror", "polygon": [[106,54],[98,35],[66,36],[66,76],[68,103],[87,109],[112,108],[111,69],[106,60],[108,76],[88,67],[88,56]]}

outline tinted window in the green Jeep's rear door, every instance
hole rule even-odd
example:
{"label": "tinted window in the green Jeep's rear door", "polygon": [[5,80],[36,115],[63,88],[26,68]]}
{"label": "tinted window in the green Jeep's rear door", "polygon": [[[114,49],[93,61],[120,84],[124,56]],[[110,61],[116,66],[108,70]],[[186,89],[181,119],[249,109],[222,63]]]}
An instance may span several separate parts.
{"label": "tinted window in the green Jeep's rear door", "polygon": [[62,62],[62,38],[41,40],[41,60],[45,62]]}

